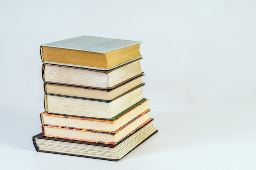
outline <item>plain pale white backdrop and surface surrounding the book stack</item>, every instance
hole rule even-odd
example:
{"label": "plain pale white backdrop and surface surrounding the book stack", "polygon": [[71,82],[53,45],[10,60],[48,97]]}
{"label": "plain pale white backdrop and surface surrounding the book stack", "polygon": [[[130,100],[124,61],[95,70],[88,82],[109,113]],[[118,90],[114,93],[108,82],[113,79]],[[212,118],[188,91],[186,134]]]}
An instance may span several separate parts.
{"label": "plain pale white backdrop and surface surrounding the book stack", "polygon": [[[39,47],[80,35],[143,41],[159,130],[119,162],[37,153]],[[1,0],[0,169],[256,169],[255,0]]]}

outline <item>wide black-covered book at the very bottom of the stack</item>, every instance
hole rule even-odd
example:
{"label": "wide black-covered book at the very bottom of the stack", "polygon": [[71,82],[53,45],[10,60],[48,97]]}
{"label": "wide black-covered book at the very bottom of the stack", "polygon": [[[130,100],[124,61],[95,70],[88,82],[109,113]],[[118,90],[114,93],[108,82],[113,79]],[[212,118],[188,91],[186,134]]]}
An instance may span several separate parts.
{"label": "wide black-covered book at the very bottom of the stack", "polygon": [[43,133],[34,136],[33,143],[38,152],[119,161],[156,132],[151,121],[116,145],[45,137]]}

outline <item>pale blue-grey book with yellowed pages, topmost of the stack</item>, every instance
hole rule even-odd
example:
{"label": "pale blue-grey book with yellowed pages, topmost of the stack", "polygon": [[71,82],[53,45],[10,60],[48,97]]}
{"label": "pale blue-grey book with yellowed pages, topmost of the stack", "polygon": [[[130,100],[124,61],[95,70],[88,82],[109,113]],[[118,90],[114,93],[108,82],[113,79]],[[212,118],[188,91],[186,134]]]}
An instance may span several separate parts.
{"label": "pale blue-grey book with yellowed pages, topmost of the stack", "polygon": [[43,63],[111,70],[141,58],[141,41],[80,36],[40,46]]}

